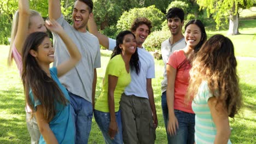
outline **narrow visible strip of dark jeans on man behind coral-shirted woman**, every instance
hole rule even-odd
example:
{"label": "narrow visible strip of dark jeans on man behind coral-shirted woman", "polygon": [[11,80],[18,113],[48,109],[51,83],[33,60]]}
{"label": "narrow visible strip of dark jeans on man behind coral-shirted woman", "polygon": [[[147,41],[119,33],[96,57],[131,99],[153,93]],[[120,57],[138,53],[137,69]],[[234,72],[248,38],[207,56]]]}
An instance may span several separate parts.
{"label": "narrow visible strip of dark jeans on man behind coral-shirted woman", "polygon": [[166,131],[166,135],[167,135],[167,140],[168,143],[170,142],[171,136],[167,133],[167,118],[168,118],[168,106],[167,106],[167,101],[166,101],[166,91],[162,93],[162,97],[161,97],[161,105],[162,105],[162,116],[164,117],[164,122],[165,122],[165,131]]}

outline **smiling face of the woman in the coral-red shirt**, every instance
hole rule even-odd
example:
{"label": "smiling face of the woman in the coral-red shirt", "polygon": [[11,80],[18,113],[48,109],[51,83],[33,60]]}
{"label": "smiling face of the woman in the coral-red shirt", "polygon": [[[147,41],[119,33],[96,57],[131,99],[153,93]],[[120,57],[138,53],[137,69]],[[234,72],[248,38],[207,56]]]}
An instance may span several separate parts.
{"label": "smiling face of the woman in the coral-red shirt", "polygon": [[200,28],[195,25],[191,24],[187,26],[185,29],[185,41],[187,43],[187,46],[189,46],[191,49],[194,49],[194,47],[199,44],[201,40],[201,31]]}

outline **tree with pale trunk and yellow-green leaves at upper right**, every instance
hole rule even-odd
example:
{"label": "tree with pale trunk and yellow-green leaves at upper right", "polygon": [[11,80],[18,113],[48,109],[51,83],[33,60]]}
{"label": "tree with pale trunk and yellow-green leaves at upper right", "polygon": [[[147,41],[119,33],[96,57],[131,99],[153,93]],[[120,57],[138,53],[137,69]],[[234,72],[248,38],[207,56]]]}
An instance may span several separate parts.
{"label": "tree with pale trunk and yellow-green leaves at upper right", "polygon": [[201,8],[206,8],[207,15],[214,14],[216,28],[219,29],[222,19],[228,22],[229,17],[229,35],[239,34],[238,32],[238,9],[252,7],[253,0],[196,0]]}

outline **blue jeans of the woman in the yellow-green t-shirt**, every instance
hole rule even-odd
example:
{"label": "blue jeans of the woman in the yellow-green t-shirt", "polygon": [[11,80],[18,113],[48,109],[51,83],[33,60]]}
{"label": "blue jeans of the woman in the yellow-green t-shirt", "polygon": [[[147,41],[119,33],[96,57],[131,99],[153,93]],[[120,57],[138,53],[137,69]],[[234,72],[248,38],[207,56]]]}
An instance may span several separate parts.
{"label": "blue jeans of the woman in the yellow-green t-shirt", "polygon": [[118,132],[115,134],[114,139],[110,139],[108,135],[108,128],[110,123],[110,113],[94,110],[94,118],[98,127],[101,129],[101,133],[104,137],[106,143],[121,143],[123,144],[122,135],[122,121],[121,121],[121,111],[115,112],[115,119],[118,124]]}

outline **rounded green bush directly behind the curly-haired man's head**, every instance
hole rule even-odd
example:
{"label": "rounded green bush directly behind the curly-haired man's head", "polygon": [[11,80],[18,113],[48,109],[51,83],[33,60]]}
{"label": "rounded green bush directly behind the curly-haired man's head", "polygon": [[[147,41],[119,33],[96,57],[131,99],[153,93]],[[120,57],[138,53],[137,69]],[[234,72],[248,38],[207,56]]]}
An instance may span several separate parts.
{"label": "rounded green bush directly behind the curly-haired man's head", "polygon": [[165,20],[164,14],[155,5],[147,8],[133,8],[125,11],[117,23],[118,31],[130,29],[131,23],[136,17],[147,17],[153,25],[152,31],[161,29],[161,23]]}

